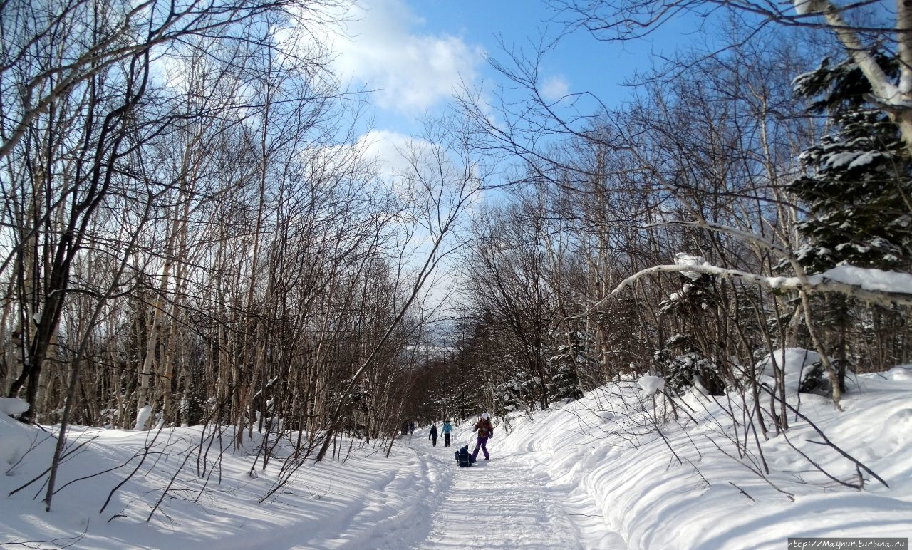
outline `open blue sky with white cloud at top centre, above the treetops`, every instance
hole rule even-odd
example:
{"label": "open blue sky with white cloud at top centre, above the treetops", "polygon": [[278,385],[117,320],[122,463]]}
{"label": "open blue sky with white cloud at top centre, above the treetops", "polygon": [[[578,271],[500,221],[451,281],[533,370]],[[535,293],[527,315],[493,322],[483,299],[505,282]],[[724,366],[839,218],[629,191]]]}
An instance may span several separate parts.
{"label": "open blue sky with white cloud at top centre, above the treetops", "polygon": [[[498,46],[530,53],[539,36],[561,26],[538,0],[359,0],[339,38],[336,68],[353,86],[372,93],[375,130],[410,134],[426,112],[442,109],[461,82],[491,89],[498,75],[484,59],[503,58]],[[584,31],[565,37],[544,57],[545,90],[554,97],[590,91],[609,107],[626,99],[621,86],[649,65],[652,51],[670,53],[691,40],[663,28],[637,42],[598,42]]]}

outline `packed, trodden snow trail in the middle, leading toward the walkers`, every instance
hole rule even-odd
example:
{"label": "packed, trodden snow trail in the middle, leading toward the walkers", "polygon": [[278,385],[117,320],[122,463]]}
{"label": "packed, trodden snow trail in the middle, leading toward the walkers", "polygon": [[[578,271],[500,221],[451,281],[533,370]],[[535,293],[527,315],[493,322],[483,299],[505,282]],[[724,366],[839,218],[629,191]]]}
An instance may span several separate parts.
{"label": "packed, trodden snow trail in the middle, leading toward the walkers", "polygon": [[[595,502],[573,487],[554,484],[533,454],[498,455],[489,442],[492,460],[459,468],[453,452],[465,444],[453,438],[450,447],[437,447],[416,437],[403,440],[414,452],[419,487],[408,511],[379,522],[347,547],[413,548],[625,548],[611,532]],[[473,449],[474,445],[470,445]],[[399,487],[399,490],[404,489]],[[395,489],[393,490],[395,494]],[[607,533],[607,534],[606,534]]]}

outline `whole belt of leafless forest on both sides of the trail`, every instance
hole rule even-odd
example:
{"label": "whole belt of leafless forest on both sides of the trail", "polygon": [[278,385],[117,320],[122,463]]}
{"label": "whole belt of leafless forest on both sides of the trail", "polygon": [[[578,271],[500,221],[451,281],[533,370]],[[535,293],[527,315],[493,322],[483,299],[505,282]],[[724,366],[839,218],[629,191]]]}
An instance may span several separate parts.
{"label": "whole belt of leafless forest on both sides of the trail", "polygon": [[[21,420],[275,433],[265,464],[279,437],[321,459],[340,433],[621,376],[759,399],[751,368],[785,347],[820,351],[838,405],[846,372],[908,360],[908,300],[808,279],[912,266],[905,35],[732,20],[731,47],[610,108],[546,97],[541,57],[494,58],[508,84],[464,90],[390,178],[317,30],[344,7],[0,6],[0,379]],[[817,15],[776,14],[833,36]],[[444,260],[452,323],[425,299]]]}

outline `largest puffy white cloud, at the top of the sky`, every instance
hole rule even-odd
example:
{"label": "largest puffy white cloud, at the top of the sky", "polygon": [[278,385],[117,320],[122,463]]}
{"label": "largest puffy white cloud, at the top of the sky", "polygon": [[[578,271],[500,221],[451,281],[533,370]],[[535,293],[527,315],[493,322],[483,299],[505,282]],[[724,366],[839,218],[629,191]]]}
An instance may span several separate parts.
{"label": "largest puffy white cloud, at the top of the sky", "polygon": [[475,78],[482,50],[458,36],[417,34],[424,21],[404,0],[364,0],[337,36],[334,65],[375,90],[379,107],[400,112],[429,109]]}

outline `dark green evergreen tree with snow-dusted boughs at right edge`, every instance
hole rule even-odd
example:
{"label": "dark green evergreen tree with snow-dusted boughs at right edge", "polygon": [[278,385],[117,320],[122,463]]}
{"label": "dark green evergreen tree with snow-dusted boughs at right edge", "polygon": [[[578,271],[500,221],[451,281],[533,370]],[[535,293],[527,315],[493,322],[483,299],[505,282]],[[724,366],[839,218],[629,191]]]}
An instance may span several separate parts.
{"label": "dark green evergreen tree with snow-dusted boughs at right edge", "polygon": [[[894,57],[875,53],[878,64],[898,78]],[[807,240],[801,263],[815,272],[834,265],[896,269],[912,259],[912,161],[896,124],[871,103],[871,88],[854,61],[819,67],[793,80],[796,94],[817,98],[812,109],[826,113],[833,130],[805,150],[808,173],[791,191],[808,216],[798,225]]]}

